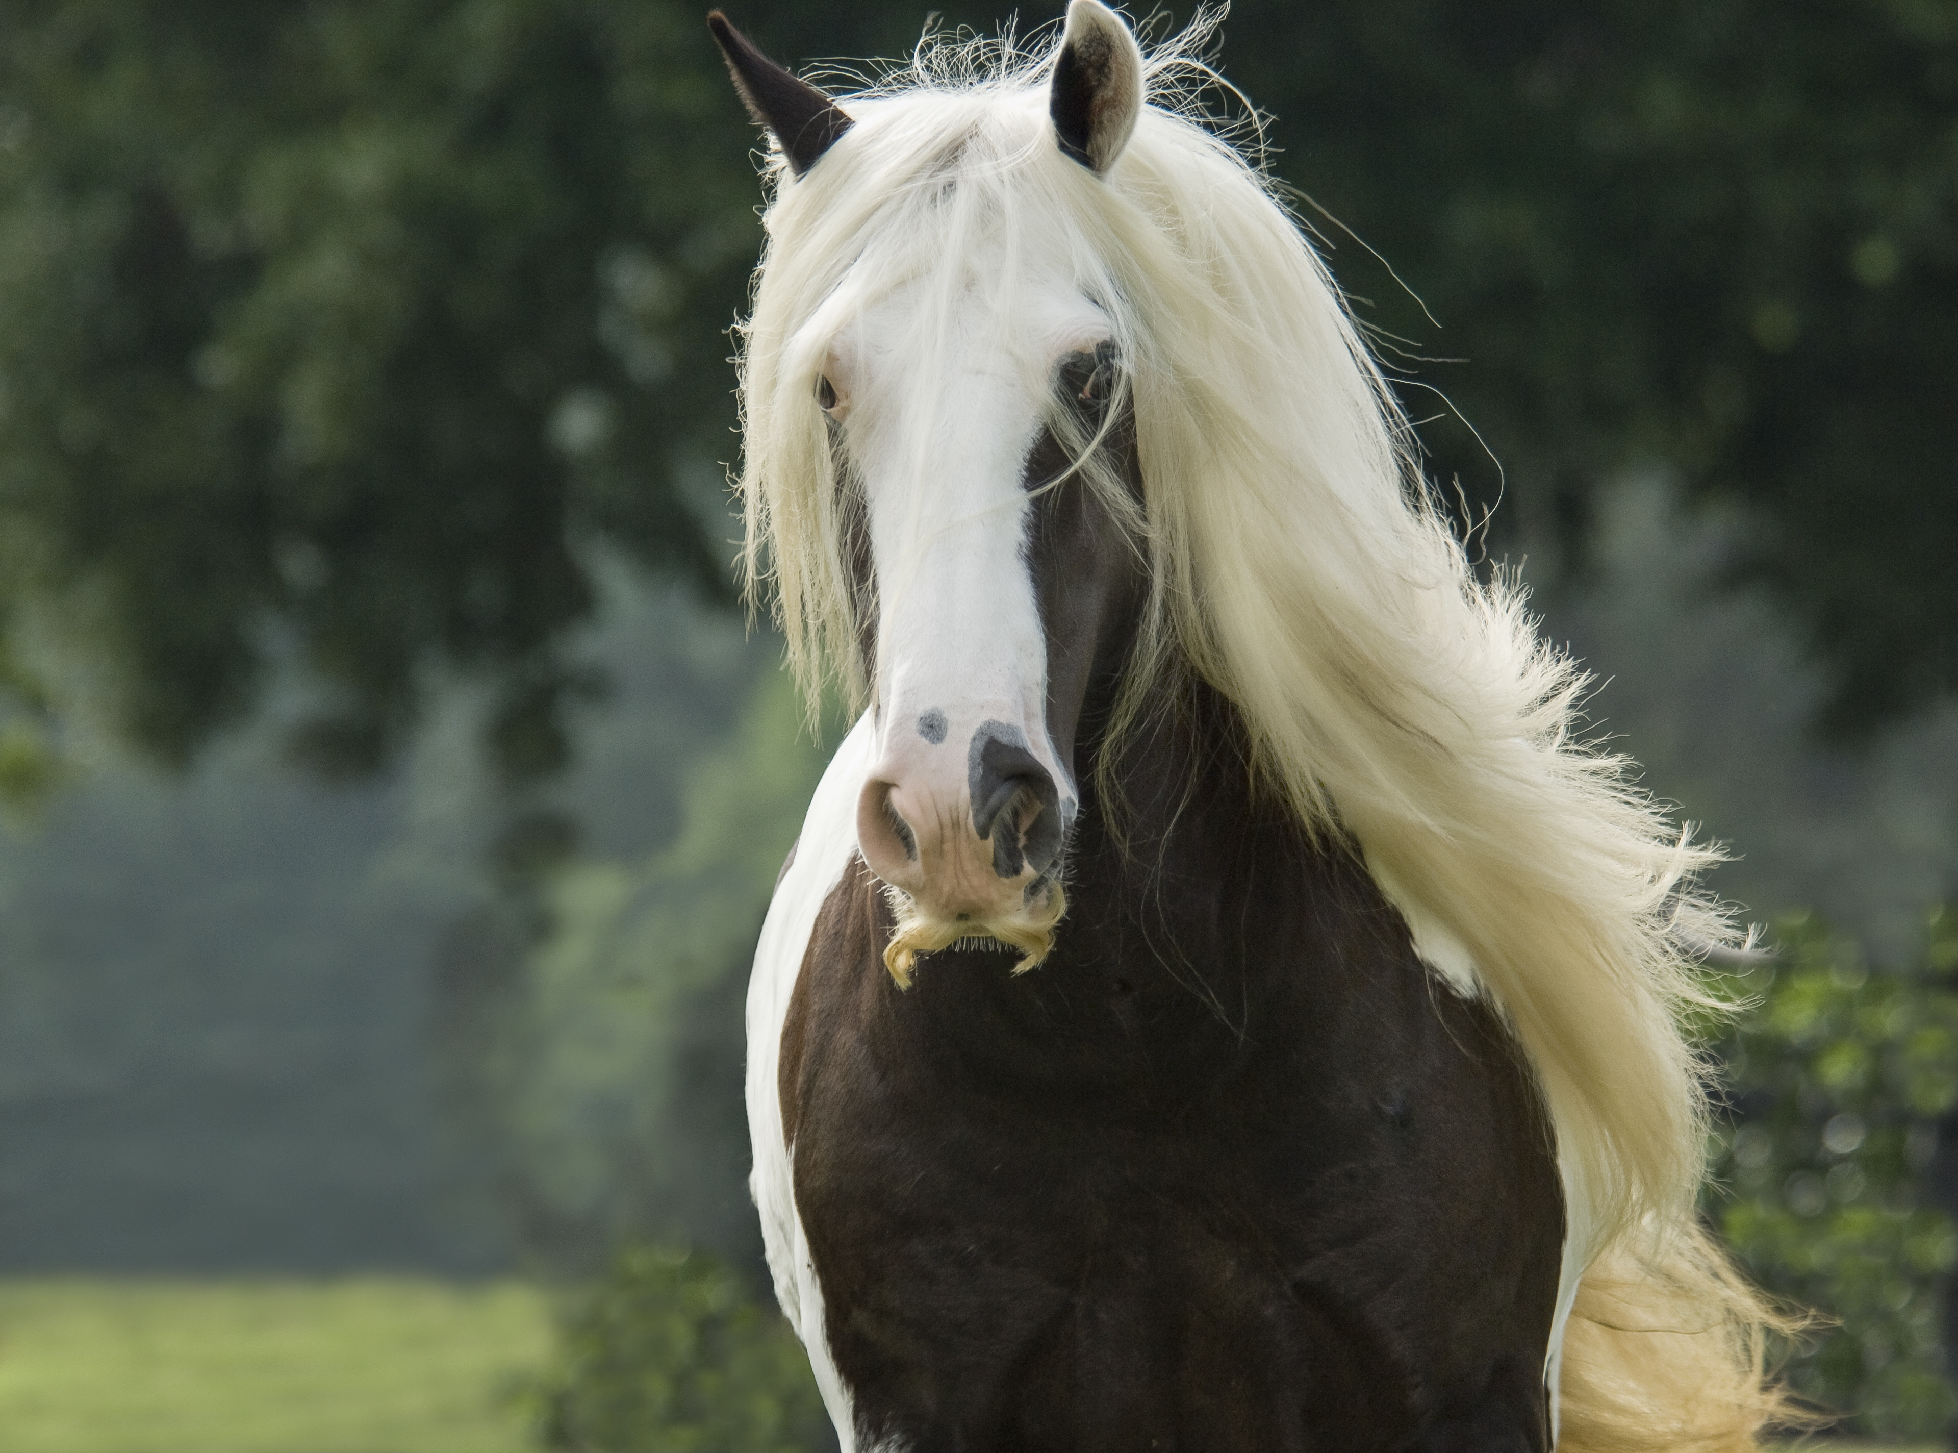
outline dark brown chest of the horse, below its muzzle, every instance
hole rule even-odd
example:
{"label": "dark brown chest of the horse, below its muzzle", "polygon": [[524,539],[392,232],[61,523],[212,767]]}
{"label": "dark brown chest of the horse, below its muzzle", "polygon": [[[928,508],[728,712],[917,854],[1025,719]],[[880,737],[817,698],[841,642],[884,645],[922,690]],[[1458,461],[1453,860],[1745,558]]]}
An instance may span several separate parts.
{"label": "dark brown chest of the horse, below its muzzle", "polygon": [[865,1437],[1396,1447],[1494,1398],[1515,1437],[1478,1447],[1541,1443],[1561,1202],[1492,1016],[1414,965],[1165,967],[1120,924],[905,995],[885,934],[846,875],[779,1075]]}

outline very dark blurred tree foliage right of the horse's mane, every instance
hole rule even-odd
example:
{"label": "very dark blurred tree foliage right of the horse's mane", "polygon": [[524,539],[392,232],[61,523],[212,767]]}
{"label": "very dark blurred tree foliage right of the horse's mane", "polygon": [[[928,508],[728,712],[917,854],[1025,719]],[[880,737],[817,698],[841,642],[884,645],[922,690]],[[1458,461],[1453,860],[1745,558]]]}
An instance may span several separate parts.
{"label": "very dark blurred tree foliage right of the horse's mane", "polygon": [[1494,550],[1582,568],[1656,462],[1747,507],[1825,726],[1958,685],[1958,6],[1237,0],[1222,61]]}

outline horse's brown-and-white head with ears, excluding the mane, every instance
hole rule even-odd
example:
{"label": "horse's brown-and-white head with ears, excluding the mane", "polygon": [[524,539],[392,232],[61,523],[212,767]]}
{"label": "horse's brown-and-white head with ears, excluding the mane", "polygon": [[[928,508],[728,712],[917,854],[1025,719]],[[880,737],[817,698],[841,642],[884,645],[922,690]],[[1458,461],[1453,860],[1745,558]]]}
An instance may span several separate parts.
{"label": "horse's brown-and-white head with ears, excluding the mane", "polygon": [[[781,186],[805,186],[832,147],[854,143],[858,119],[719,12],[713,29],[781,147]],[[1036,163],[1051,184],[1100,184],[1142,86],[1128,27],[1098,0],[1073,0]],[[909,119],[871,116],[862,129]],[[822,417],[846,519],[877,732],[858,840],[893,891],[885,963],[909,983],[918,954],[959,940],[1016,948],[1020,969],[1046,956],[1081,807],[1083,707],[1134,634],[1145,570],[1118,327],[1106,288],[1083,278],[1079,239],[1002,227],[997,194],[961,196],[930,170],[899,192],[969,213],[959,245],[920,255],[903,208],[895,227],[891,213],[862,219],[852,260],[789,352],[811,366],[803,401]]]}

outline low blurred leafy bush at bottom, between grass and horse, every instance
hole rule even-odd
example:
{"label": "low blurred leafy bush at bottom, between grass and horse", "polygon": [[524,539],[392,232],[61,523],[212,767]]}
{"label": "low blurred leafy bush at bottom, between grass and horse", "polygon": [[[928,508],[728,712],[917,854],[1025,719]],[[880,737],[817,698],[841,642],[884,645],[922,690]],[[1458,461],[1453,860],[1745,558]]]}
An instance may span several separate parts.
{"label": "low blurred leafy bush at bottom, between grass and horse", "polygon": [[809,1357],[724,1263],[642,1247],[566,1318],[538,1388],[554,1453],[834,1449]]}

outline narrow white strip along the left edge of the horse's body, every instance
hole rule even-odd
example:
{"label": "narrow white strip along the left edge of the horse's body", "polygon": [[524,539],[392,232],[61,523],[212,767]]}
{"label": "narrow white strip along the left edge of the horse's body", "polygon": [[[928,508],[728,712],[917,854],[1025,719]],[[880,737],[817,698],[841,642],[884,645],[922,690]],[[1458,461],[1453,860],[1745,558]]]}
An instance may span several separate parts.
{"label": "narrow white strip along the left edge of the horse's body", "polygon": [[754,1173],[748,1189],[762,1212],[762,1245],[775,1298],[809,1349],[809,1365],[830,1410],[842,1453],[856,1453],[854,1410],[822,1334],[822,1285],[795,1212],[793,1148],[781,1126],[781,1028],[803,969],[816,914],[856,858],[856,803],[873,752],[871,719],[850,730],[830,760],[803,819],[795,862],[775,885],[748,981],[748,1136]]}

